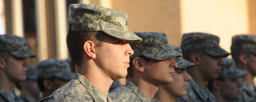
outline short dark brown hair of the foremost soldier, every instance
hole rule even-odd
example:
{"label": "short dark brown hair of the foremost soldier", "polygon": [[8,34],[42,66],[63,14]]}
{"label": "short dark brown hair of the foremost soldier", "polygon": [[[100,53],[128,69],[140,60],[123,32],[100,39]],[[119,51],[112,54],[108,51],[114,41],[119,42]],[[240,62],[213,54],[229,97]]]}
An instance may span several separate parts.
{"label": "short dark brown hair of the foremost soldier", "polygon": [[84,53],[83,45],[86,41],[92,41],[96,46],[103,44],[106,34],[102,31],[69,31],[67,34],[67,46],[69,54],[74,65],[82,65],[82,55]]}

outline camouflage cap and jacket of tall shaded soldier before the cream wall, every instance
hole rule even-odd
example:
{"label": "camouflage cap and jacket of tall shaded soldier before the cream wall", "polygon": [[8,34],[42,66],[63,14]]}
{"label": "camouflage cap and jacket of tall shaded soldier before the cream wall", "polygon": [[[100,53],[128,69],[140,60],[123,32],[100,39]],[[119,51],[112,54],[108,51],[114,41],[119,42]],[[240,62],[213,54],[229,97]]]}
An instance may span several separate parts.
{"label": "camouflage cap and jacket of tall shaded soldier before the cream wall", "polygon": [[[181,49],[184,51],[202,51],[213,57],[226,57],[229,55],[219,46],[220,38],[208,33],[186,33],[182,37]],[[176,100],[177,102],[216,102],[215,97],[206,87],[200,89],[191,77],[188,82],[187,95]]]}

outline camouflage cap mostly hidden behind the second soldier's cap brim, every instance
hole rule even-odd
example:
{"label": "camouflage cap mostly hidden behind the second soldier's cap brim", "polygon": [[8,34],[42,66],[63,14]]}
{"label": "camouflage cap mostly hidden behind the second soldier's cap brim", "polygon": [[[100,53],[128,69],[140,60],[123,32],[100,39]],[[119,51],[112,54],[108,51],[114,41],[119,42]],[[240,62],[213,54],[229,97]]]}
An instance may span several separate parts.
{"label": "camouflage cap mostly hidden behind the second soldier's cap brim", "polygon": [[[180,47],[176,47],[173,45],[170,45],[170,47],[174,50],[176,50],[177,52],[182,54],[182,50]],[[183,57],[179,57],[179,58],[173,58],[173,60],[177,63],[178,67],[176,69],[184,69],[184,68],[189,68],[194,66],[195,64],[192,62],[189,62],[187,60],[185,60]]]}

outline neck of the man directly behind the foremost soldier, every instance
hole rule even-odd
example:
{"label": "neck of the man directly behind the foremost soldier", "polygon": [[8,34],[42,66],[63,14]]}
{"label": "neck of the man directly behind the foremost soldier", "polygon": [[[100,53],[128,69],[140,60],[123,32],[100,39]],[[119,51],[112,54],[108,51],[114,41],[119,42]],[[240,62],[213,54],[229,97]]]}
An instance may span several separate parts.
{"label": "neck of the man directly behind the foremost soldier", "polygon": [[[137,75],[142,75],[142,74],[137,74]],[[153,99],[153,97],[155,96],[158,90],[158,86],[152,83],[146,82],[145,80],[141,79],[141,77],[134,76],[133,78],[129,78],[129,80],[132,81],[150,100]]]}

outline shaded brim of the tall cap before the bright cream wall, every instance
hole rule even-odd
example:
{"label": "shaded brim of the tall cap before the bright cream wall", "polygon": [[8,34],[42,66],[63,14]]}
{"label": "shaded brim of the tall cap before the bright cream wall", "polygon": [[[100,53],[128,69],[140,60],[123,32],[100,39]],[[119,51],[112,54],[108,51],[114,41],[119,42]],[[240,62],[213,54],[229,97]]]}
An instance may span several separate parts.
{"label": "shaded brim of the tall cap before the bright cream wall", "polygon": [[227,57],[228,55],[230,55],[230,53],[226,52],[224,49],[220,47],[203,49],[203,52],[214,57]]}

